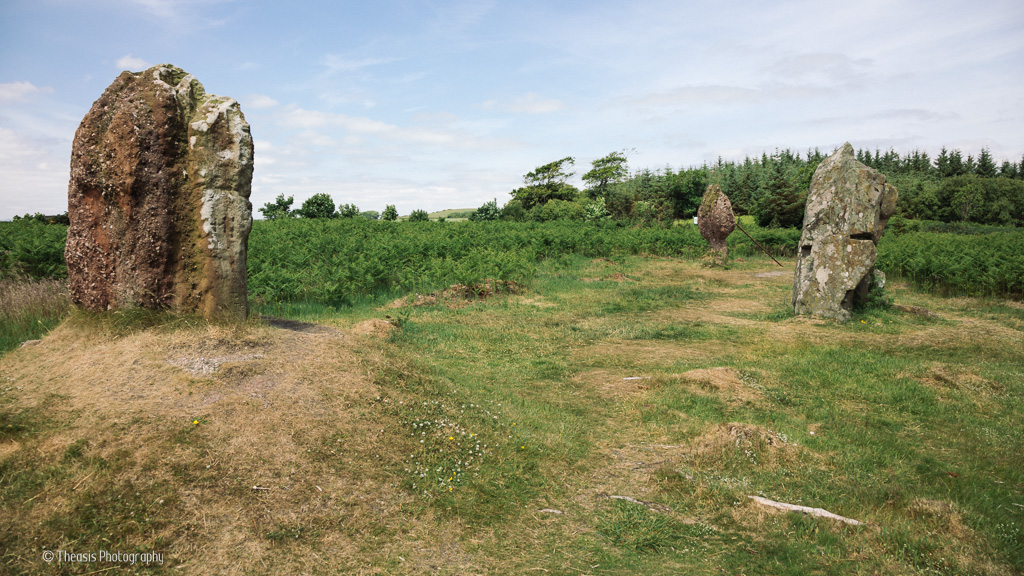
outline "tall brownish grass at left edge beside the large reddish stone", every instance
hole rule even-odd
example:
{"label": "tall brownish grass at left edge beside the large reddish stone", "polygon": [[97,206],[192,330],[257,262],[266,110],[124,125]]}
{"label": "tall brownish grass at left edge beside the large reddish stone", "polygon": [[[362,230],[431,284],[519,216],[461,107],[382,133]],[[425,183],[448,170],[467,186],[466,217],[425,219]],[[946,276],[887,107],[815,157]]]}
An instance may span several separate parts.
{"label": "tall brownish grass at left edge beside the large reddish stone", "polygon": [[65,280],[0,278],[0,353],[45,334],[71,307]]}

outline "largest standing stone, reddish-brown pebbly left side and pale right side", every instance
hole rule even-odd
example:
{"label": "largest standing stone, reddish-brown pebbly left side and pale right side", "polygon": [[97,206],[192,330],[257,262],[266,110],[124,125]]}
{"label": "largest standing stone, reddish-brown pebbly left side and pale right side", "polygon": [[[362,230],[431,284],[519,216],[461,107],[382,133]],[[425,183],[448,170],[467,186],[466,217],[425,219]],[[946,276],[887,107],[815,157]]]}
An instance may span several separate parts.
{"label": "largest standing stone, reddish-brown pebbly left side and pale right side", "polygon": [[75,133],[72,298],[244,319],[252,174],[236,100],[170,65],[122,73]]}

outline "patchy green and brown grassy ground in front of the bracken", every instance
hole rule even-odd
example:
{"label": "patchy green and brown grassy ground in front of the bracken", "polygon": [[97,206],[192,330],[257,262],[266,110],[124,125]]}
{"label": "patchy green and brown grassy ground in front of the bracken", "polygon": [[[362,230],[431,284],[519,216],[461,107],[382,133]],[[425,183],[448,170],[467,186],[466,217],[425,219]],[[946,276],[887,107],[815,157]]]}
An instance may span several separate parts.
{"label": "patchy green and brown grassy ground in front of the bracken", "polygon": [[145,569],[175,574],[1024,570],[1020,305],[895,286],[938,316],[837,325],[794,318],[791,288],[769,261],[564,258],[524,293],[362,306],[309,332],[73,319],[0,358],[3,562],[52,574],[42,549],[103,548],[162,551]]}

